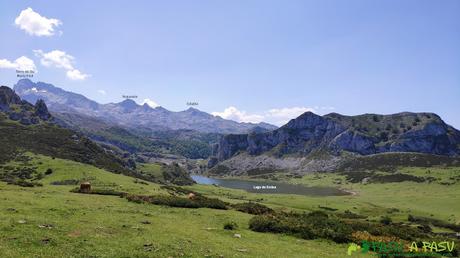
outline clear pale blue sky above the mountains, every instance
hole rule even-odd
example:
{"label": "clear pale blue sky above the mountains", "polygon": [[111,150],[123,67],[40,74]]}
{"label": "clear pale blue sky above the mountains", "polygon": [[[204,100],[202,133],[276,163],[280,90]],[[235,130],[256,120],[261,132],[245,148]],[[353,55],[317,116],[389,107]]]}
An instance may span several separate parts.
{"label": "clear pale blue sky above the mountains", "polygon": [[[48,27],[31,12],[15,23],[29,7]],[[427,111],[460,128],[458,0],[1,0],[0,14],[9,86],[24,56],[34,81],[101,103],[191,101],[275,124],[305,110]]]}

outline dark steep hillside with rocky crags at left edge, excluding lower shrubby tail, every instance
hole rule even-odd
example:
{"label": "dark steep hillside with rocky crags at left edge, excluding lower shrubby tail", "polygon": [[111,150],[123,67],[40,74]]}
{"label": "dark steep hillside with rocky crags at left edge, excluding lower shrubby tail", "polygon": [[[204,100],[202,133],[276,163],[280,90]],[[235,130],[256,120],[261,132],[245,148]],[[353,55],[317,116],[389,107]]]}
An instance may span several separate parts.
{"label": "dark steep hillside with rocky crags at left edge, excluding lower shrubby tail", "polygon": [[115,173],[131,172],[126,160],[75,131],[60,127],[43,100],[33,105],[6,86],[0,87],[0,163],[30,151],[74,160]]}

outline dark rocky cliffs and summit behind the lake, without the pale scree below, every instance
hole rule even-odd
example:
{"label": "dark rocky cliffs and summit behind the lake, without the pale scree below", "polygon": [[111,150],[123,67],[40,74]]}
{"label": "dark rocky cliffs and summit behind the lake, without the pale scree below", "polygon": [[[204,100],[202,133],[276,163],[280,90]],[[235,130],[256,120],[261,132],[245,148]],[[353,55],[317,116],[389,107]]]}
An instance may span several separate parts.
{"label": "dark rocky cliffs and summit behind the lake, without the pale scree below", "polygon": [[360,155],[417,152],[459,156],[460,131],[433,113],[319,116],[306,112],[271,132],[224,136],[214,156],[222,161],[241,152],[281,157],[307,156],[312,151],[333,155],[347,151]]}

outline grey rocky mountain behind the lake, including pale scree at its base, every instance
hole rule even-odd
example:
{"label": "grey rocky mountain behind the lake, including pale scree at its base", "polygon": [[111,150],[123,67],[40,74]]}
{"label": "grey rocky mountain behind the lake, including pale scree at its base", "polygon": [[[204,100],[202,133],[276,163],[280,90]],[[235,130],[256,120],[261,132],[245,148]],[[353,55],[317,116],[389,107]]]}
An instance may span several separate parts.
{"label": "grey rocky mountain behind the lake, including pale scree at its base", "polygon": [[319,116],[306,112],[270,132],[223,136],[208,165],[219,164],[220,170],[236,173],[253,169],[321,171],[336,169],[349,157],[385,153],[458,157],[460,131],[433,113]]}

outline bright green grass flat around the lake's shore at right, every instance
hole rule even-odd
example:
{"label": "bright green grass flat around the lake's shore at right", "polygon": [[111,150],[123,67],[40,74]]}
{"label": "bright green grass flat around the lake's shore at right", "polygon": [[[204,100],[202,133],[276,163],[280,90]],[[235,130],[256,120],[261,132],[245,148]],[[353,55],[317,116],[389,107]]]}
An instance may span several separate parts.
{"label": "bright green grass flat around the lake's shore at right", "polygon": [[335,186],[353,193],[348,196],[329,197],[260,195],[209,185],[188,188],[209,196],[219,196],[230,202],[258,201],[275,209],[314,211],[321,206],[337,209],[336,213],[348,210],[366,216],[371,221],[379,221],[381,216],[388,215],[394,221],[407,222],[408,215],[412,214],[460,224],[460,206],[457,205],[460,197],[460,168],[403,168],[399,172],[418,177],[433,177],[436,180],[362,184],[348,182],[346,176],[339,173],[312,173],[302,178],[280,173],[271,177],[272,180],[307,186]]}

